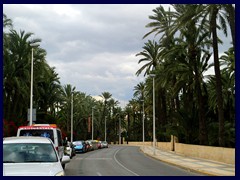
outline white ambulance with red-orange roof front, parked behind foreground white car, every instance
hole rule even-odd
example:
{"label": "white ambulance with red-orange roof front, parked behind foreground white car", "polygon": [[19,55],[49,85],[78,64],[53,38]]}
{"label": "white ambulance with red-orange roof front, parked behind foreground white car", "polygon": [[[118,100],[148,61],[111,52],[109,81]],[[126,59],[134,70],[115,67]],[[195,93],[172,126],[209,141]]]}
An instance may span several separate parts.
{"label": "white ambulance with red-orange roof front, parked behind foreground white car", "polygon": [[[50,138],[62,162],[64,155],[62,132],[56,124],[33,124],[31,126],[20,126],[17,131],[17,136],[41,136]],[[62,166],[65,168],[65,163],[62,162]]]}

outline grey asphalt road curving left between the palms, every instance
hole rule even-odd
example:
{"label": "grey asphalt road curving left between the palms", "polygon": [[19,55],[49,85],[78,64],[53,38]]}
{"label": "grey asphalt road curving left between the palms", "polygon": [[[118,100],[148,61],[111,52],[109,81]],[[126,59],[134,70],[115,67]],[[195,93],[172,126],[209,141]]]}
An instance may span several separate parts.
{"label": "grey asphalt road curving left between the palms", "polygon": [[144,155],[135,146],[112,145],[76,154],[66,176],[201,176]]}

